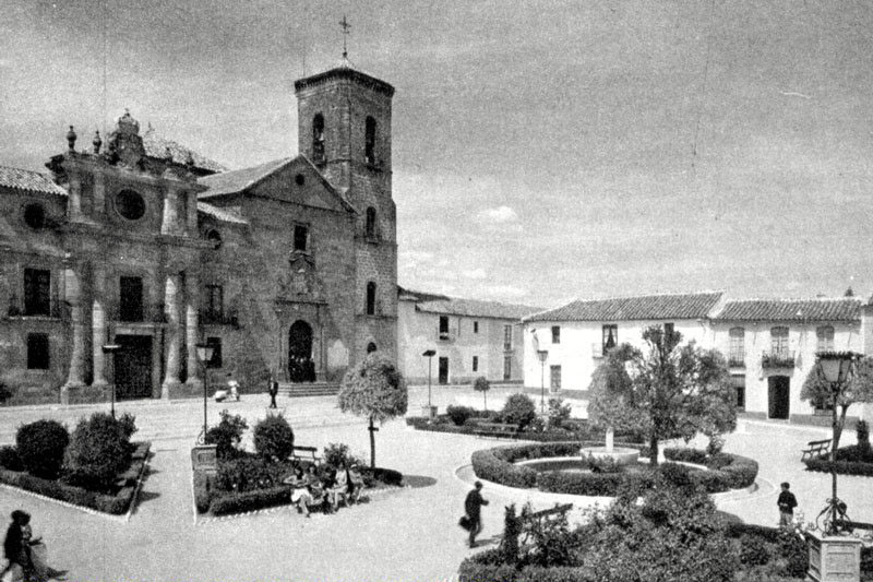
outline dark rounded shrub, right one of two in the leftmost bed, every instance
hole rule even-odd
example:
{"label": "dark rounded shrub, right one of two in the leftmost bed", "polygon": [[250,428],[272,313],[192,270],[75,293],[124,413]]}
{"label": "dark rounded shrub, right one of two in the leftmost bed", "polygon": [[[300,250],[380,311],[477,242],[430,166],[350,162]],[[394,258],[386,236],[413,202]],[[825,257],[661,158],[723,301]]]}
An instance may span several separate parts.
{"label": "dark rounded shrub, right one of two in the leftmost bed", "polygon": [[130,466],[133,448],[128,428],[106,413],[80,420],[67,449],[67,482],[95,491],[111,490]]}

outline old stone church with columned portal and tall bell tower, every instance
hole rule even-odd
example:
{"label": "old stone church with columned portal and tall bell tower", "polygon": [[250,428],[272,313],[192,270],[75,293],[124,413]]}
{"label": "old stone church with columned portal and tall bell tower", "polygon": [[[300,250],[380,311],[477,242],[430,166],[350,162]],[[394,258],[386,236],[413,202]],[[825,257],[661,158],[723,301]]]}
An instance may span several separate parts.
{"label": "old stone church with columned portal and tall bell tower", "polygon": [[348,67],[295,88],[296,157],[225,171],[125,114],[106,144],[71,128],[50,176],[0,168],[8,401],[200,393],[198,344],[243,391],[396,358],[394,88]]}

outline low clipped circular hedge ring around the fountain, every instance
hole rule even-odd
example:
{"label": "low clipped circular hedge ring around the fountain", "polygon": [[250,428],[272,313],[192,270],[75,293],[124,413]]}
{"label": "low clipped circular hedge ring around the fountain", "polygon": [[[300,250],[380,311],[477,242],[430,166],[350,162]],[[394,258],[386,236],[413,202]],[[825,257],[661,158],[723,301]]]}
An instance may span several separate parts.
{"label": "low clipped circular hedge ring around the fountain", "polygon": [[[602,446],[602,442],[583,442],[583,446]],[[647,473],[562,473],[537,472],[531,467],[514,464],[515,461],[551,456],[573,456],[579,454],[581,443],[553,442],[547,444],[519,444],[498,447],[473,453],[473,471],[477,477],[509,487],[531,488],[554,494],[584,496],[614,496],[619,486],[631,483],[641,487],[650,486]],[[617,443],[635,448],[641,454],[648,449],[641,444]],[[707,456],[694,449],[666,449],[665,456],[670,461],[682,461],[706,465],[709,471],[694,472],[691,478],[699,483],[707,492],[720,492],[748,487],[755,482],[757,463],[752,459],[719,453]],[[581,455],[579,455],[581,458]]]}

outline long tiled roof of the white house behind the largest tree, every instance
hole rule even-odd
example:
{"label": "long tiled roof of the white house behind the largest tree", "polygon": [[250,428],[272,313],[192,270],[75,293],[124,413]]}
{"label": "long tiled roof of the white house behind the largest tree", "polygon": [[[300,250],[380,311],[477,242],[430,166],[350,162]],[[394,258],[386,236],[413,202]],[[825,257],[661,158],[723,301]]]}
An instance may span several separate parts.
{"label": "long tiled roof of the white house behind the largest tree", "polygon": [[681,295],[647,295],[618,299],[573,301],[536,313],[525,321],[634,321],[701,319],[709,316],[721,292]]}

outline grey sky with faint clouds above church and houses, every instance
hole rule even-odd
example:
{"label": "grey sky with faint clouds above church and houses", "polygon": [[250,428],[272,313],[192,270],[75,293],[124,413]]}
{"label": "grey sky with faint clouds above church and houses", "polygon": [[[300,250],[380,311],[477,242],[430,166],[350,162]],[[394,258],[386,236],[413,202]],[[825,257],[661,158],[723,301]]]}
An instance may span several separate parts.
{"label": "grey sky with faint clouds above church and houses", "polygon": [[396,88],[400,285],[873,293],[861,0],[7,0],[0,164],[44,169],[124,108],[231,168],[294,155],[294,81],[339,62],[344,14]]}

